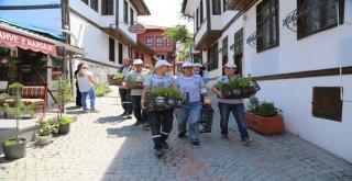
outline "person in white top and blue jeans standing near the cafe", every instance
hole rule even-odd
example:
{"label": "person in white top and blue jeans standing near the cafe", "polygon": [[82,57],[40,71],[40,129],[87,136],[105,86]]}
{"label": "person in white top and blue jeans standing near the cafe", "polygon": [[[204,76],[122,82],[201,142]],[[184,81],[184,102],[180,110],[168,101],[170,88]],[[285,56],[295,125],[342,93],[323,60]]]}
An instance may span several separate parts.
{"label": "person in white top and blue jeans standing near the cafe", "polygon": [[81,105],[84,111],[88,111],[87,109],[87,95],[90,99],[90,111],[96,112],[96,90],[97,82],[95,81],[94,75],[88,71],[88,66],[82,65],[78,76],[77,76],[79,91],[81,93]]}

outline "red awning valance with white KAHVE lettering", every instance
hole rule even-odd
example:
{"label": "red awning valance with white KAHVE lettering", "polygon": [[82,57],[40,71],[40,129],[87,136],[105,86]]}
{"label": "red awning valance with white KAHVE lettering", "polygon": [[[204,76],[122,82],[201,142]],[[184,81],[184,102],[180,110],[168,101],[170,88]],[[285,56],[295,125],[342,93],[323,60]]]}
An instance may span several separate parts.
{"label": "red awning valance with white KAHVE lettering", "polygon": [[32,49],[34,52],[42,52],[44,54],[51,54],[57,57],[56,46],[34,39],[31,37],[14,34],[4,30],[0,30],[0,43],[7,44],[9,46],[18,46],[23,49]]}

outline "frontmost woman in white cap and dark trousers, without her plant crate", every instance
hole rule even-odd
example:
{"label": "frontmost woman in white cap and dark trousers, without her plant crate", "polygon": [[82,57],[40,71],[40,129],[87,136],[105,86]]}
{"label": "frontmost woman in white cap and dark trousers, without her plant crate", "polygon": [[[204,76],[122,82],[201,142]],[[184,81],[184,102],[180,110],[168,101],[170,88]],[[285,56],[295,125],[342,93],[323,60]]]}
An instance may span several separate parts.
{"label": "frontmost woman in white cap and dark trousers, without her plant crate", "polygon": [[[155,64],[156,72],[148,76],[144,82],[144,90],[142,94],[141,104],[144,108],[145,92],[150,92],[156,88],[176,88],[175,79],[172,76],[166,75],[168,67],[172,65],[166,60],[157,60]],[[156,156],[163,156],[164,149],[168,148],[166,139],[173,128],[173,114],[174,110],[163,111],[150,111],[147,112],[147,120],[151,125],[151,132],[153,136],[154,149]]]}

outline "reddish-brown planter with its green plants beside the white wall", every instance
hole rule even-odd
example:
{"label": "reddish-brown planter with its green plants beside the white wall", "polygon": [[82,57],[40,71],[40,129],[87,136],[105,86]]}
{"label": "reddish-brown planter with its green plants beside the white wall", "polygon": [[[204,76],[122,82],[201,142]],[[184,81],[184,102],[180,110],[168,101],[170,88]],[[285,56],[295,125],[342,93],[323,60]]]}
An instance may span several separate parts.
{"label": "reddish-brown planter with its green plants beside the white wall", "polygon": [[248,127],[265,135],[283,133],[285,129],[282,110],[273,102],[261,102],[257,98],[251,98],[248,111],[244,112],[244,121]]}

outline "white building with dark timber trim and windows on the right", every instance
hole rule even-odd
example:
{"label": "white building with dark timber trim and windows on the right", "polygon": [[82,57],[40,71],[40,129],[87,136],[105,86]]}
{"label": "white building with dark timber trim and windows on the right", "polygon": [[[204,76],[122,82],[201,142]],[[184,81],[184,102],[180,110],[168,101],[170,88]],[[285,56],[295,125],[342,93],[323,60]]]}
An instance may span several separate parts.
{"label": "white building with dark timber trim and windows on the right", "polygon": [[[288,132],[352,162],[352,146],[346,144],[352,136],[352,2],[185,0],[183,11],[195,16],[195,27],[201,3],[208,18],[195,29],[195,47],[202,50],[211,77],[221,76],[228,47],[228,58],[241,67],[242,76],[258,81],[256,97],[283,110]],[[221,4],[221,16],[234,13],[219,30],[212,29],[221,21],[213,15],[218,5],[211,4]],[[202,27],[209,22],[210,27]],[[207,37],[212,41],[207,43]]]}

